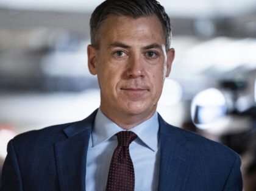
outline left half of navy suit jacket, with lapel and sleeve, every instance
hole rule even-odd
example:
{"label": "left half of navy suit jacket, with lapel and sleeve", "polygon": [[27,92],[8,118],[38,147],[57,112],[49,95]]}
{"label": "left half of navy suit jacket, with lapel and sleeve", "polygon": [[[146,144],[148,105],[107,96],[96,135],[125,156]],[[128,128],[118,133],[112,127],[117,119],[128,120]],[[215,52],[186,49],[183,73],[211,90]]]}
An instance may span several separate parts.
{"label": "left half of navy suit jacket, with lapel and sleeve", "polygon": [[7,146],[0,190],[84,190],[95,114],[14,137]]}

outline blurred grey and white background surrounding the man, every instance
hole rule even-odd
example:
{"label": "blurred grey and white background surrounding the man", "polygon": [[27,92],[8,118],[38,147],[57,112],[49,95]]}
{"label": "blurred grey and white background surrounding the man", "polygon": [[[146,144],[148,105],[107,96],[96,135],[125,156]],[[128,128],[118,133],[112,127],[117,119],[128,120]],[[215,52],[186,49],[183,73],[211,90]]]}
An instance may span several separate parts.
{"label": "blurred grey and white background surrounding the man", "polygon": [[[102,1],[0,0],[0,172],[24,131],[87,117],[99,88],[87,68],[89,19]],[[159,1],[176,49],[158,112],[240,154],[256,190],[256,1]]]}

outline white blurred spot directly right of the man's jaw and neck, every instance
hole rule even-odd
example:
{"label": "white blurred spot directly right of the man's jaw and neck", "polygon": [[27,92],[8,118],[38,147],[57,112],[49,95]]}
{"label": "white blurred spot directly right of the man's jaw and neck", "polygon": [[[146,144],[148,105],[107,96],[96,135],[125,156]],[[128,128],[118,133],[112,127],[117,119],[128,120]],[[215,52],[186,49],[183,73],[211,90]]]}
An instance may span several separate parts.
{"label": "white blurred spot directly right of the man's jaw and neck", "polygon": [[162,96],[159,103],[161,105],[175,105],[182,99],[182,86],[175,80],[166,78],[163,85]]}

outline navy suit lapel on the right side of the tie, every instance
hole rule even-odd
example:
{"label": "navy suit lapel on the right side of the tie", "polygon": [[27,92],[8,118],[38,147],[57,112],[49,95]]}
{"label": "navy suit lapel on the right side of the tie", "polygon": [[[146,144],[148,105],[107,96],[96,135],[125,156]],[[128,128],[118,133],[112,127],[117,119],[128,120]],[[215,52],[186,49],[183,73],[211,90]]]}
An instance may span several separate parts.
{"label": "navy suit lapel on the right side of the tie", "polygon": [[160,115],[160,175],[158,190],[184,190],[191,161],[191,148],[183,131],[166,123]]}

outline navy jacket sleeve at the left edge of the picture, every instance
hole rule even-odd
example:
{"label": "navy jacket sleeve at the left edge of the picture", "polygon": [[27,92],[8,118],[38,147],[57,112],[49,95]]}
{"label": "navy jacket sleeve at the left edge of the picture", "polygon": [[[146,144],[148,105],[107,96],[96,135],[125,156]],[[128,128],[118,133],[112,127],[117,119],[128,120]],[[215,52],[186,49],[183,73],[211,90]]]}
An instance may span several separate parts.
{"label": "navy jacket sleeve at the left edge of the picture", "polygon": [[2,186],[0,191],[22,191],[20,167],[15,153],[13,141],[7,146],[7,156],[2,167]]}

